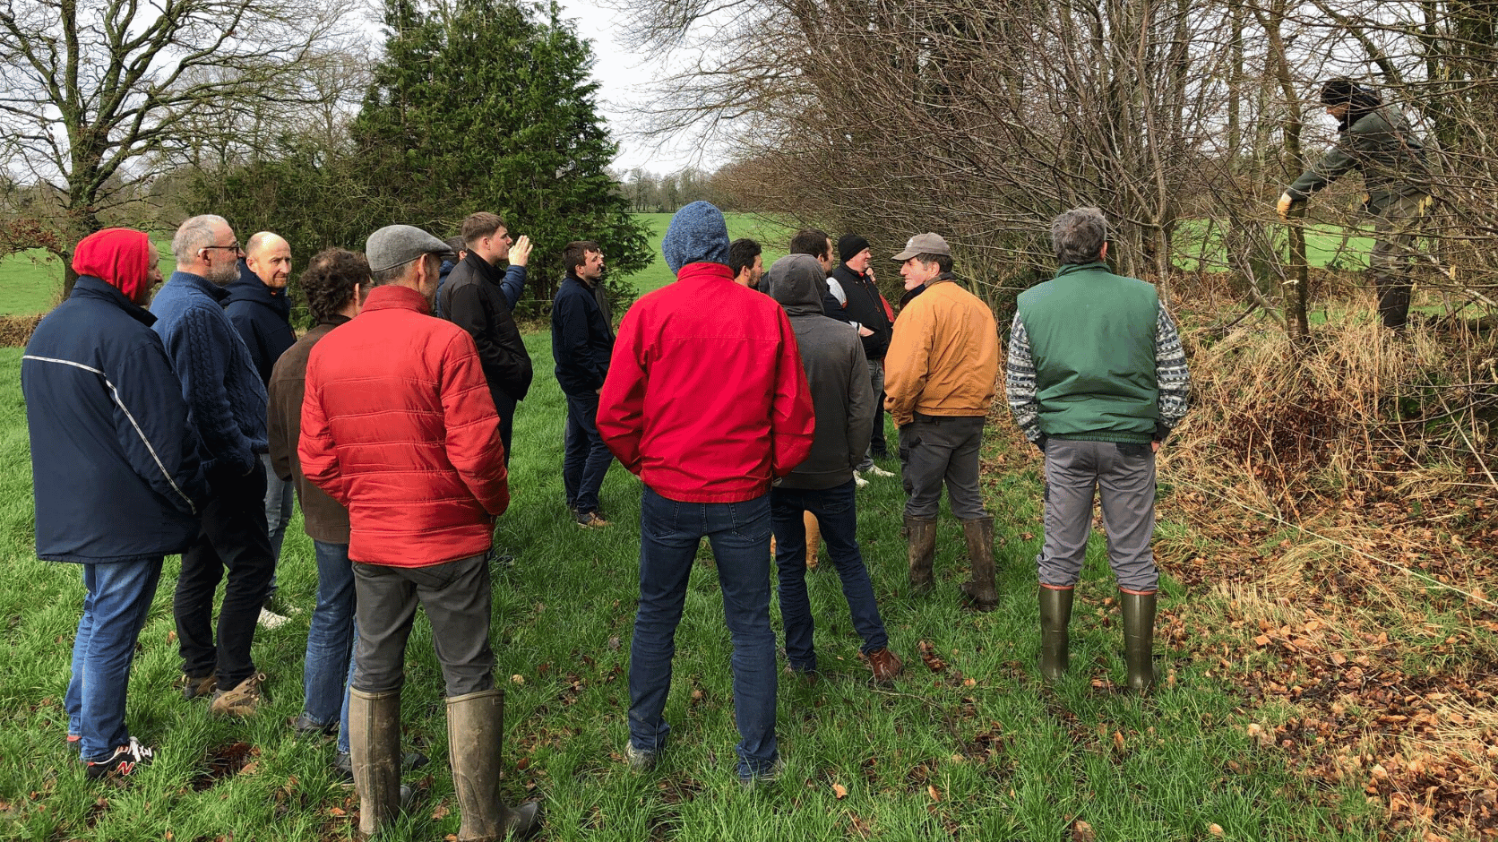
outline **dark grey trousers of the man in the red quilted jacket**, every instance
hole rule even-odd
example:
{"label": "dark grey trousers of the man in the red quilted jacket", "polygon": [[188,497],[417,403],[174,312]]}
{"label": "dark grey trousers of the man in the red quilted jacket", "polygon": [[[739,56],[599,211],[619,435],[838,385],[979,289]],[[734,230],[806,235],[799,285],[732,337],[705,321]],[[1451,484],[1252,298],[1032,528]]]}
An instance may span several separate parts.
{"label": "dark grey trousers of the man in the red quilted jacket", "polygon": [[431,620],[431,643],[448,697],[494,686],[494,650],[488,644],[488,553],[427,568],[354,562],[354,593],[360,629],[354,689],[400,689],[406,638],[418,602]]}

